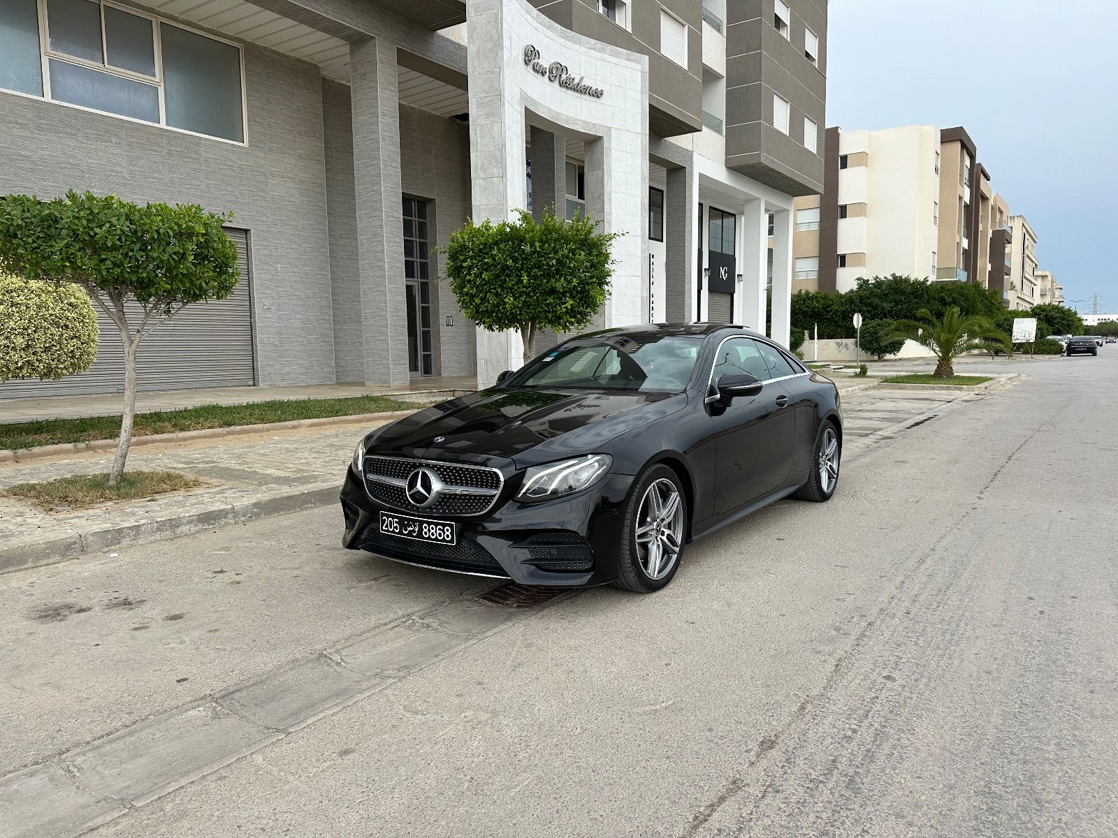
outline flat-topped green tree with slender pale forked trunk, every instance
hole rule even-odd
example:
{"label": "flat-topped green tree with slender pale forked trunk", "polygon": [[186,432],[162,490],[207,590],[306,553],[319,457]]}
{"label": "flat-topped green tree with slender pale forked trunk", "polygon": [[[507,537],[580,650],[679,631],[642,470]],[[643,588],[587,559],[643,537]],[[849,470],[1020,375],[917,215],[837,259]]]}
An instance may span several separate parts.
{"label": "flat-topped green tree with slender pale forked trunk", "polygon": [[0,198],[0,269],[80,286],[120,332],[124,409],[110,485],[120,483],[132,442],[140,342],[183,306],[224,299],[237,286],[237,249],[221,229],[229,218],[92,192]]}

